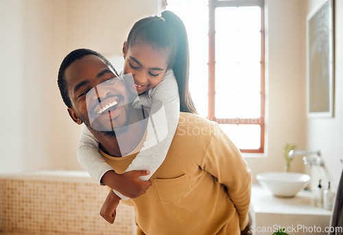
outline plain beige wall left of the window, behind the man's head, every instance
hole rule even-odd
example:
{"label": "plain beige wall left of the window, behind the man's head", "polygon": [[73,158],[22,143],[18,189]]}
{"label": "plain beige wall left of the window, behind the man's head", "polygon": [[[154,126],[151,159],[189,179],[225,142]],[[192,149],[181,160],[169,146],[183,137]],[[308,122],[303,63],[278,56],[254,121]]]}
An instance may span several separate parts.
{"label": "plain beige wall left of the window, behind the man's head", "polygon": [[121,55],[133,23],[158,9],[158,0],[0,1],[0,173],[82,169],[80,126],[56,82],[60,63],[80,47]]}

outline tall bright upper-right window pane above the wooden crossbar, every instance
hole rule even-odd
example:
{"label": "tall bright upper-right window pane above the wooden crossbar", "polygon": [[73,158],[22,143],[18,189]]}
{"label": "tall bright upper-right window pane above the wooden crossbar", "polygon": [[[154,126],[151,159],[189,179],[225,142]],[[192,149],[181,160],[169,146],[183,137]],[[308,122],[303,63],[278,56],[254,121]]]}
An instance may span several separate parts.
{"label": "tall bright upper-right window pane above the wooden crossbar", "polygon": [[215,116],[261,116],[261,8],[215,11]]}

